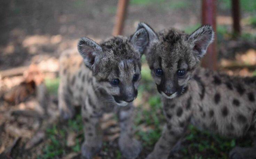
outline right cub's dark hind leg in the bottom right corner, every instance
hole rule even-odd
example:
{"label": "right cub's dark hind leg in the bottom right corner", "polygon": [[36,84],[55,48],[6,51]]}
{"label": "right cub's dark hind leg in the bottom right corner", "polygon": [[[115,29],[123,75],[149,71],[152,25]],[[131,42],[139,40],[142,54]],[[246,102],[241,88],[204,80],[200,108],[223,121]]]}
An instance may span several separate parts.
{"label": "right cub's dark hind leg in the bottom right corner", "polygon": [[244,148],[236,146],[229,153],[231,159],[256,159],[256,124],[251,125],[248,130],[248,135],[250,135],[251,139],[254,141],[253,147]]}

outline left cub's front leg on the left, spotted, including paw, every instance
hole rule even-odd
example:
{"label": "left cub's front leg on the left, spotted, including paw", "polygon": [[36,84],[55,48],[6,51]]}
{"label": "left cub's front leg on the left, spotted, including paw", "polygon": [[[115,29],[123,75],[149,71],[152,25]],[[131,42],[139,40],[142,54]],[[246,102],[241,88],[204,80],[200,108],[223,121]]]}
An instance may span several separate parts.
{"label": "left cub's front leg on the left, spotted, including paw", "polygon": [[91,159],[97,154],[102,146],[102,130],[100,126],[101,115],[96,115],[92,105],[82,105],[82,117],[85,141],[82,144],[82,156]]}

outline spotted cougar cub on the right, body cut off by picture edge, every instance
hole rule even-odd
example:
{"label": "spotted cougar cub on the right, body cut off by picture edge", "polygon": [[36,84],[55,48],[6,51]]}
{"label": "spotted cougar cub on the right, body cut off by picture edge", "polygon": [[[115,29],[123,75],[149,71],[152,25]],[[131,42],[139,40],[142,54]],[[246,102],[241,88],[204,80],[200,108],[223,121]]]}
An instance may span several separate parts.
{"label": "spotted cougar cub on the right, body cut off by picture edge", "polygon": [[[155,33],[147,24],[146,59],[162,95],[167,123],[148,159],[166,159],[189,123],[228,137],[256,138],[256,78],[230,77],[199,66],[214,31],[204,25],[188,35],[175,29]],[[255,158],[256,147],[236,147],[231,158]]]}

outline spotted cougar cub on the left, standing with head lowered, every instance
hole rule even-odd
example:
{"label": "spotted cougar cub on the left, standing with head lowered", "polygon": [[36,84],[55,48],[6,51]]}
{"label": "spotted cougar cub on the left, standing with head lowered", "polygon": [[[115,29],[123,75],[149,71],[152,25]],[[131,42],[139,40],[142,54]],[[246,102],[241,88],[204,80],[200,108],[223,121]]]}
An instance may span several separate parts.
{"label": "spotted cougar cub on the left, standing with head lowered", "polygon": [[133,104],[141,79],[140,57],[147,45],[147,32],[139,29],[133,36],[112,37],[97,44],[83,37],[78,54],[60,57],[59,109],[64,119],[74,115],[73,105],[82,106],[85,141],[82,156],[91,159],[102,145],[100,117],[117,111],[121,134],[119,148],[126,158],[135,158],[142,147],[133,138]]}

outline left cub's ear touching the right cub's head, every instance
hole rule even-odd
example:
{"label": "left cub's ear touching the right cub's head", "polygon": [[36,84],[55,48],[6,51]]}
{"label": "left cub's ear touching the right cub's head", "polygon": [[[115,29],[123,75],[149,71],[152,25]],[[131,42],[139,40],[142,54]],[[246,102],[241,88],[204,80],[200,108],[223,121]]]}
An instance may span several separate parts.
{"label": "left cub's ear touching the right cub's head", "polygon": [[148,33],[145,28],[138,29],[130,39],[131,44],[142,55],[148,44]]}

